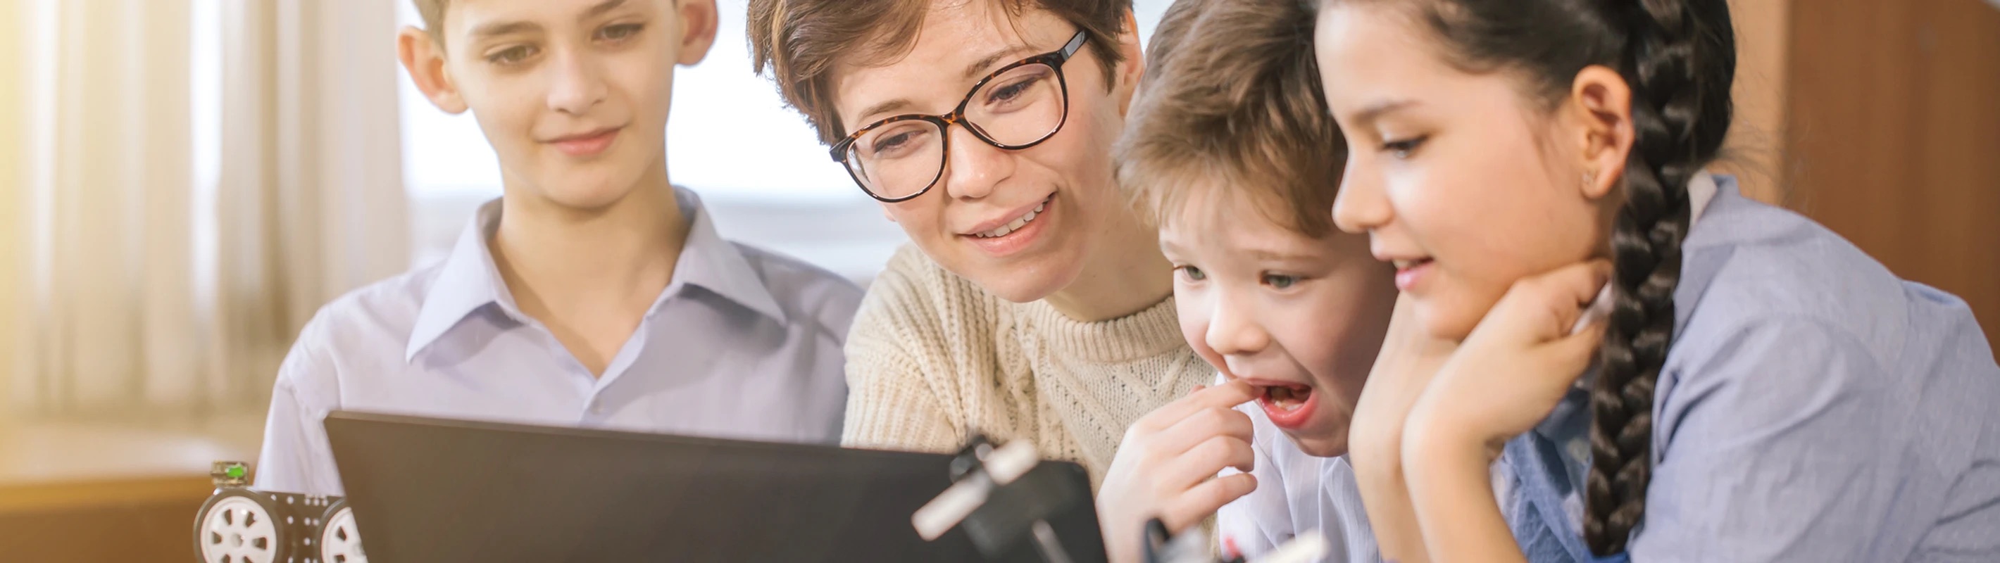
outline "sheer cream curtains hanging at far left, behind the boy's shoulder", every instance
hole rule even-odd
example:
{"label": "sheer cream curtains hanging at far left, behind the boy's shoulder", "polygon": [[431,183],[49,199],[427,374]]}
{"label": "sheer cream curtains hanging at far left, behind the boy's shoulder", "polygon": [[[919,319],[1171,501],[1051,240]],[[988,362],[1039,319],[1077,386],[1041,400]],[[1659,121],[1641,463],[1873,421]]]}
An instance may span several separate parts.
{"label": "sheer cream curtains hanging at far left, behind the boy's shoulder", "polygon": [[408,264],[392,0],[10,2],[16,413],[262,405],[320,303]]}

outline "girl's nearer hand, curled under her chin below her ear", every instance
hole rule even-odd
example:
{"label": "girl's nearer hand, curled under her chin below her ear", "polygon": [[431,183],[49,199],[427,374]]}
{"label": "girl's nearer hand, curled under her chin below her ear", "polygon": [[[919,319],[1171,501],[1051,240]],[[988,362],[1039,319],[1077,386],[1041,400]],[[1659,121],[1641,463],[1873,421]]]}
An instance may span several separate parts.
{"label": "girl's nearer hand, curled under her chin below her ear", "polygon": [[[1610,280],[1610,262],[1514,282],[1452,353],[1410,413],[1404,449],[1500,445],[1548,417],[1590,367],[1604,323],[1570,327]],[[1374,381],[1370,381],[1374,385]]]}

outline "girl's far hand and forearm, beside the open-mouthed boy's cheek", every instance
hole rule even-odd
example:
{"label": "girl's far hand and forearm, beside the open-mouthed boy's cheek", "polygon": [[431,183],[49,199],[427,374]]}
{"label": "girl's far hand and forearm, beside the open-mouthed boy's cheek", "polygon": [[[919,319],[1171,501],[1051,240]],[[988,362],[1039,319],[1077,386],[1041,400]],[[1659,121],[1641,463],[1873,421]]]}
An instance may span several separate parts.
{"label": "girl's far hand and forearm, beside the open-mouthed boy's cheek", "polygon": [[1402,433],[1410,409],[1452,349],[1456,343],[1424,331],[1408,295],[1396,297],[1382,351],[1348,425],[1348,461],[1384,559],[1428,561],[1402,475]]}

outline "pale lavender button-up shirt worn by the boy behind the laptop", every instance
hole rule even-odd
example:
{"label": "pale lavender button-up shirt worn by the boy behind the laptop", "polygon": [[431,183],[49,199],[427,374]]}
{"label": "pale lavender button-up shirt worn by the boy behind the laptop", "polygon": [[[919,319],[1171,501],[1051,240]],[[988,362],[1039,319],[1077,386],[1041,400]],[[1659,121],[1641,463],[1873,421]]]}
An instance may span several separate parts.
{"label": "pale lavender button-up shirt worn by the boy behind the laptop", "polygon": [[838,443],[860,287],[726,242],[694,192],[676,198],[690,230],[674,282],[602,377],[514,305],[486,246],[500,202],[444,262],[328,303],[278,369],[256,485],[340,495],[320,425],[334,409]]}

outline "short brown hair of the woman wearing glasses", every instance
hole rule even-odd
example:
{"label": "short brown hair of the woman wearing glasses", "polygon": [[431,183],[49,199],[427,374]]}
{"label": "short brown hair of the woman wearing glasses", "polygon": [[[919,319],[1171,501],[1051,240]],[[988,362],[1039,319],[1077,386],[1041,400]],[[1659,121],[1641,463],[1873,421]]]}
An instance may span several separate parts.
{"label": "short brown hair of the woman wearing glasses", "polygon": [[[442,0],[434,0],[442,2]],[[1116,76],[1118,34],[1132,0],[966,0],[994,2],[1012,18],[1046,10],[1082,28],[1088,48],[1104,62],[1104,80]],[[812,122],[820,142],[846,138],[834,112],[834,72],[840,64],[894,60],[916,46],[932,0],[750,0],[750,64],[770,68],[778,94]]]}

